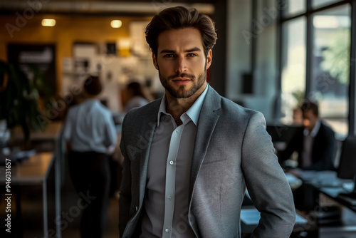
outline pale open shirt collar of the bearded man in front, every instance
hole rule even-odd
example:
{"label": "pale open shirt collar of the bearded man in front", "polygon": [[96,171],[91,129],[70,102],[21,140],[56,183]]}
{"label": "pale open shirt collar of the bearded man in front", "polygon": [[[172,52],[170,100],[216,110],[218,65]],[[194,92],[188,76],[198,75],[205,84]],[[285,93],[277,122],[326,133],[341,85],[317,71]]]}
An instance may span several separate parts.
{"label": "pale open shirt collar of the bearded man in front", "polygon": [[[201,95],[199,95],[199,98],[197,98],[197,100],[195,100],[195,102],[193,103],[193,105],[187,110],[187,112],[183,113],[183,115],[181,115],[181,120],[184,121],[186,120],[186,117],[188,116],[195,125],[198,125],[198,118],[200,115],[200,110],[201,110],[201,106],[203,105],[204,102],[204,98],[206,96],[206,93],[208,92],[208,87],[209,85],[206,83],[206,87],[203,91],[203,93],[201,93]],[[166,95],[164,94],[162,100],[161,100],[161,104],[159,105],[159,110],[158,110],[158,114],[157,114],[157,127],[159,126],[159,120],[161,118],[161,114],[169,114],[166,111],[166,105],[167,105],[167,100],[166,100]]]}

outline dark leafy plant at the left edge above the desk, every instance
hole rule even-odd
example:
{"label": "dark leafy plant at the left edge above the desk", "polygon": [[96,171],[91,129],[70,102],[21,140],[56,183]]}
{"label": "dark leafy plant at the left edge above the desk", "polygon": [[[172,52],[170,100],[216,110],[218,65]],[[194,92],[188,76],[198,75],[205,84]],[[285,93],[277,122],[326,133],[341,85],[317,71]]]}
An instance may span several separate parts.
{"label": "dark leafy plant at the left edge above the desk", "polygon": [[38,130],[41,124],[37,116],[38,90],[33,81],[16,66],[0,61],[0,120],[6,120],[7,128],[20,125],[25,140],[31,130]]}

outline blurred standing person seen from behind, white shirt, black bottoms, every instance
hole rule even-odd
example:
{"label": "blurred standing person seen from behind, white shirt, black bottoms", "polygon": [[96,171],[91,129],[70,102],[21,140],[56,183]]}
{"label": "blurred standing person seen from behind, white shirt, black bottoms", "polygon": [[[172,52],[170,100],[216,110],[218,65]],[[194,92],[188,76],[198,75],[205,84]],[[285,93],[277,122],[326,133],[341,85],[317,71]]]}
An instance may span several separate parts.
{"label": "blurred standing person seen from behind, white shirt, black bottoms", "polygon": [[63,129],[71,180],[88,203],[83,205],[80,222],[83,238],[103,236],[110,186],[108,155],[117,143],[112,113],[98,99],[101,90],[98,77],[85,80],[85,100],[69,108]]}

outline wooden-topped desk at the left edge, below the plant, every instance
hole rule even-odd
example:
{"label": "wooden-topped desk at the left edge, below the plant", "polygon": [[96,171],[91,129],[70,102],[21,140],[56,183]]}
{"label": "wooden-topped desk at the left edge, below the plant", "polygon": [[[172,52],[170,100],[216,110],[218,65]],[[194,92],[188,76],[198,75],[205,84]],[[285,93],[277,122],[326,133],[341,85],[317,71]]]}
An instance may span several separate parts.
{"label": "wooden-topped desk at the left edge, below the plant", "polygon": [[[11,191],[6,192],[6,197],[11,197],[12,192],[14,192],[14,188],[12,187],[14,185],[42,185],[43,237],[47,237],[48,235],[47,180],[54,160],[53,152],[41,152],[29,157],[27,160],[23,160],[19,164],[11,165]],[[1,185],[5,185],[6,182],[5,170],[5,167],[0,167]],[[56,197],[57,199],[58,197]]]}

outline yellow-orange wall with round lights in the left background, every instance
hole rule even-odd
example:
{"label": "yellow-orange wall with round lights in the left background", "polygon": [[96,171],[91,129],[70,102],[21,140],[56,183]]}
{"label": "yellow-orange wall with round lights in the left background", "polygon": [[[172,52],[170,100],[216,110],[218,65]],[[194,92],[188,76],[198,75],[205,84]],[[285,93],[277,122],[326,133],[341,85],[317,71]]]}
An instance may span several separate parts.
{"label": "yellow-orange wall with round lights in the left background", "polygon": [[[56,26],[41,26],[43,18],[56,19]],[[112,29],[110,21],[120,19],[122,27]],[[0,60],[7,61],[8,43],[54,43],[56,45],[57,88],[61,88],[63,57],[72,56],[75,42],[116,42],[129,37],[130,21],[146,21],[149,18],[113,16],[24,16],[14,14],[0,17]],[[6,29],[7,26],[7,29]],[[10,29],[10,30],[9,30]]]}

